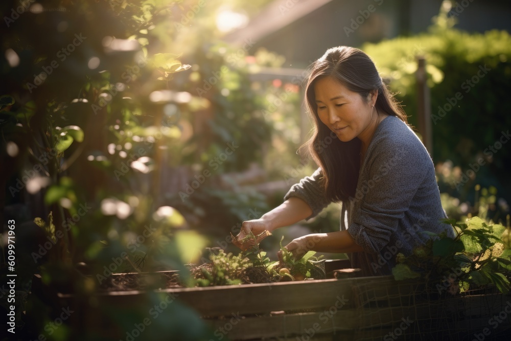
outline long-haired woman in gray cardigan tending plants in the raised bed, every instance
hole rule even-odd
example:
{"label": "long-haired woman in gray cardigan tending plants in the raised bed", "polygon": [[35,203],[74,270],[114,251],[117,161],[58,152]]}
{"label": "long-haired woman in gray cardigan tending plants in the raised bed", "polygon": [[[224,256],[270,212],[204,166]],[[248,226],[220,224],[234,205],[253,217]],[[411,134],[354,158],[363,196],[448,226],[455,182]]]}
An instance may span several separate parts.
{"label": "long-haired woman in gray cardigan tending plants in the raised bed", "polygon": [[341,201],[340,231],[299,237],[286,248],[297,258],[309,250],[350,253],[353,267],[375,276],[391,274],[398,253],[424,245],[424,231],[454,237],[440,221],[446,215],[431,157],[364,52],[329,49],[313,64],[306,104],[315,124],[309,150],[319,168],[280,206],[244,221],[238,240],[308,220]]}

